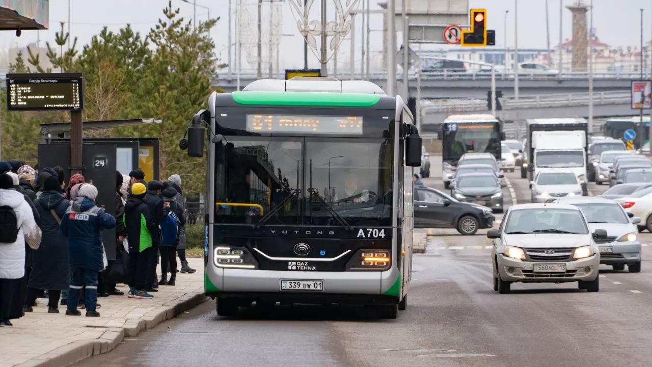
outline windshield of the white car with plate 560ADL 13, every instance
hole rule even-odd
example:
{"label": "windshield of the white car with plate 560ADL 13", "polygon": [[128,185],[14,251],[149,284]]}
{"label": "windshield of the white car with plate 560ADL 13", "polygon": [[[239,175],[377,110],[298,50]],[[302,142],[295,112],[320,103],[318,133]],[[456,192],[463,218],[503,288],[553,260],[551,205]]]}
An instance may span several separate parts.
{"label": "windshield of the white car with plate 560ADL 13", "polygon": [[589,229],[579,210],[557,209],[548,206],[512,210],[507,219],[505,234],[512,232],[587,234]]}

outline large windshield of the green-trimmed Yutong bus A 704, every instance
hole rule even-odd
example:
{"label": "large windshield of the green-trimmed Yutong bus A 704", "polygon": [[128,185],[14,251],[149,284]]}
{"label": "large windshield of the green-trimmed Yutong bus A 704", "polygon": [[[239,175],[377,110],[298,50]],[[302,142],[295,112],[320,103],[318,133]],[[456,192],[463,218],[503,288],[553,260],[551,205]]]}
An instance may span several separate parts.
{"label": "large windshield of the green-trimmed Yutong bus A 704", "polygon": [[391,225],[391,140],[229,136],[222,150],[216,223]]}

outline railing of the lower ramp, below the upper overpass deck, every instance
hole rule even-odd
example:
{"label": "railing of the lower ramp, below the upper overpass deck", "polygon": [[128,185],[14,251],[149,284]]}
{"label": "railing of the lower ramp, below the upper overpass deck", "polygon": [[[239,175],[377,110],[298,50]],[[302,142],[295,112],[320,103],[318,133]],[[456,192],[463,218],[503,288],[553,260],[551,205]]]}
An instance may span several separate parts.
{"label": "railing of the lower ramp, below the upper overpass deck", "polygon": [[[623,104],[630,103],[629,92],[603,91],[593,93],[593,104]],[[565,106],[588,106],[589,93],[564,93],[546,95],[524,95],[518,99],[499,98],[503,110],[516,110],[520,108],[545,108]],[[452,100],[448,103],[439,103],[423,108],[427,112],[473,112],[486,111],[487,101],[482,99]]]}

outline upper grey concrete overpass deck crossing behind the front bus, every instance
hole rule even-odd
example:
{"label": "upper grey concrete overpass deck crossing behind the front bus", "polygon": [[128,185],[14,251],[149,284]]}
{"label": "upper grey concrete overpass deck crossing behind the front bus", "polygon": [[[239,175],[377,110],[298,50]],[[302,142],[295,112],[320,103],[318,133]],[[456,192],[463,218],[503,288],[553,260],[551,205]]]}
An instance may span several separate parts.
{"label": "upper grey concrete overpass deck crossing behind the front bus", "polygon": [[[350,74],[336,76],[342,80],[349,79]],[[364,79],[365,76],[357,74],[355,79]],[[650,75],[644,75],[644,80],[649,80]],[[402,90],[402,76],[397,76],[398,90]],[[244,88],[256,80],[256,74],[241,74],[240,86]],[[372,73],[369,80],[385,88],[387,76],[381,73]],[[632,80],[640,80],[640,74],[602,72],[593,74],[593,91],[629,92]],[[417,76],[409,76],[409,93],[417,95]],[[585,93],[589,89],[589,78],[585,72],[565,72],[561,77],[557,74],[519,74],[519,95],[544,95],[562,93]],[[213,82],[213,87],[225,89],[227,92],[237,88],[235,74],[219,74]],[[421,97],[424,99],[451,99],[451,98],[486,98],[487,91],[491,89],[491,76],[488,72],[428,72],[421,75]],[[496,90],[502,91],[503,97],[514,95],[514,74],[496,74]]]}

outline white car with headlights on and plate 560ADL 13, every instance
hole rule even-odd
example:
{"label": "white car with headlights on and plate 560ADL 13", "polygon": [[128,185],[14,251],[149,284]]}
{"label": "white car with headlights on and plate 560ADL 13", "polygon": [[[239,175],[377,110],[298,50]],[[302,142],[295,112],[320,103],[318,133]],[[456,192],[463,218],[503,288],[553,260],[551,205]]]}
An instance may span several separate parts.
{"label": "white car with headlights on and plate 560ADL 13", "polygon": [[580,209],[567,204],[518,204],[507,210],[493,240],[494,291],[510,293],[511,284],[578,281],[588,292],[600,290],[602,229],[591,233]]}

